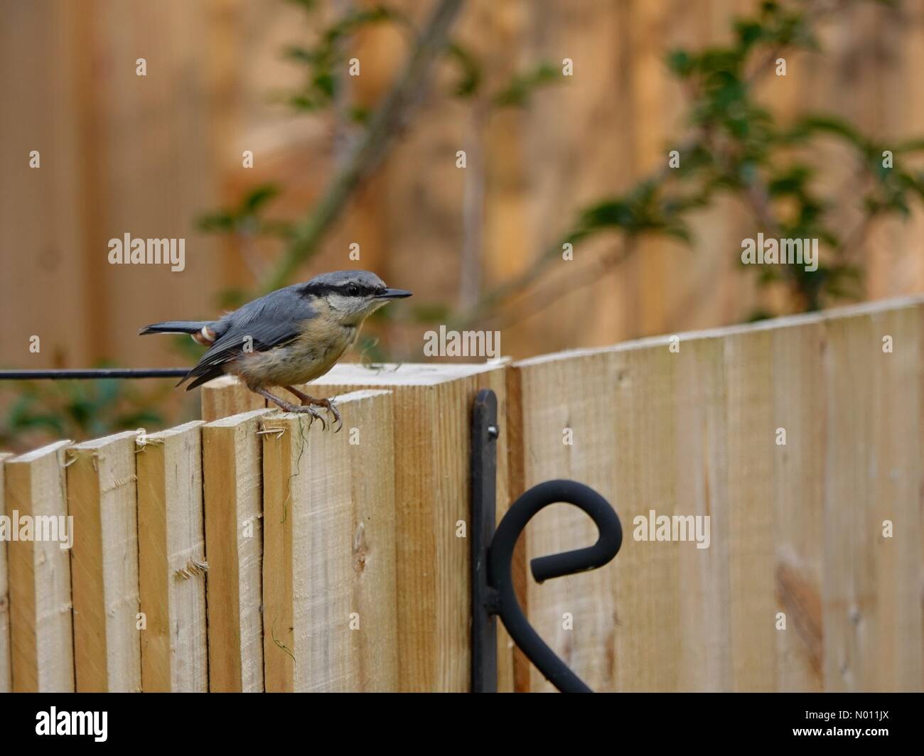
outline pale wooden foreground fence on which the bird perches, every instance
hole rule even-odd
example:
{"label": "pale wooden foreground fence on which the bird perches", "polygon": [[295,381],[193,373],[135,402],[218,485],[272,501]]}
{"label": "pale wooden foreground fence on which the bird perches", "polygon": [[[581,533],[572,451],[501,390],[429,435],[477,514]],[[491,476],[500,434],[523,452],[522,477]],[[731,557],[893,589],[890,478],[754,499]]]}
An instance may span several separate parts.
{"label": "pale wooden foreground fence on which the bird perches", "polygon": [[[566,477],[622,519],[601,569],[527,579],[594,540],[567,506],[517,560],[530,621],[591,688],[919,690],[922,318],[905,299],[515,364],[343,365],[312,387],[342,433],[222,380],[203,421],[6,457],[6,516],[72,516],[73,543],[0,550],[0,689],[467,689],[487,387],[499,517]],[[638,540],[657,516],[708,517],[708,548]],[[498,634],[499,688],[550,689]]]}

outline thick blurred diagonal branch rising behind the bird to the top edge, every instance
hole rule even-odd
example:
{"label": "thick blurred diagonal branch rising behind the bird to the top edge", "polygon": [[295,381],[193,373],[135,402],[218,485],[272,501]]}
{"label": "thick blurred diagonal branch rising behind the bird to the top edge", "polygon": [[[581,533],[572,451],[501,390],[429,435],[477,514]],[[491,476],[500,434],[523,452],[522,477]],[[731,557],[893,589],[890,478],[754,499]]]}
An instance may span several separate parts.
{"label": "thick blurred diagonal branch rising behind the bird to the top edge", "polygon": [[317,249],[324,233],[334,224],[362,179],[382,162],[395,133],[407,117],[407,111],[424,91],[432,65],[444,51],[449,30],[463,2],[441,0],[420,33],[404,72],[372,116],[369,128],[328,184],[309,217],[296,226],[286,252],[263,280],[261,288],[264,292],[286,285],[298,266]]}

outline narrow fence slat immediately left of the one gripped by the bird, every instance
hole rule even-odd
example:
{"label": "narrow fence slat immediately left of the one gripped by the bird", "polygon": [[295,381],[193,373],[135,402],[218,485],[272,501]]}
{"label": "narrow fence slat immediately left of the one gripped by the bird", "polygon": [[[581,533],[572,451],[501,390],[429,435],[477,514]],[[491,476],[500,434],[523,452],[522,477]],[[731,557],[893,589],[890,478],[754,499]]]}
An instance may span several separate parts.
{"label": "narrow fence slat immediately left of the one gripped by the bird", "polygon": [[263,689],[262,445],[256,409],[202,426],[209,689]]}

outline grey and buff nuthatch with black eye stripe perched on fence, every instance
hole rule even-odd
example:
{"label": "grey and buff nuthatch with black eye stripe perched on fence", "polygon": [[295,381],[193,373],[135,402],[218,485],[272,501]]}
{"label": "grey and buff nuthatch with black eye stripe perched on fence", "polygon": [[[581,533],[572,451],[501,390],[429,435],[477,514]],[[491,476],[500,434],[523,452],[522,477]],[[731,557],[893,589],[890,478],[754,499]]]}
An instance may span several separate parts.
{"label": "grey and buff nuthatch with black eye stripe perched on fence", "polygon": [[[153,323],[139,334],[190,334],[209,345],[196,367],[176,384],[194,378],[187,391],[220,375],[236,375],[250,391],[286,412],[307,412],[312,422],[318,418],[326,427],[317,409],[322,407],[342,426],[330,399],[303,394],[294,384],[307,384],[328,372],[356,343],[372,312],[390,299],[405,297],[409,291],[388,288],[369,271],[334,271],[254,299],[216,321]],[[298,396],[301,405],[271,394],[268,389],[274,386]]]}

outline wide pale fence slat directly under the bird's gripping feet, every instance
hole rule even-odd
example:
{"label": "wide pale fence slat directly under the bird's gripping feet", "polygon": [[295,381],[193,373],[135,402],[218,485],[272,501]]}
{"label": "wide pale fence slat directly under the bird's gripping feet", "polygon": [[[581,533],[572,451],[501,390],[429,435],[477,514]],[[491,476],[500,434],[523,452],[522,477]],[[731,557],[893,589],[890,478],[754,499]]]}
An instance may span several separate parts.
{"label": "wide pale fence slat directly under the bird's gripping feet", "polygon": [[262,423],[267,691],[398,688],[392,400],[341,397],[342,433]]}

